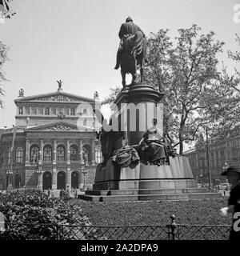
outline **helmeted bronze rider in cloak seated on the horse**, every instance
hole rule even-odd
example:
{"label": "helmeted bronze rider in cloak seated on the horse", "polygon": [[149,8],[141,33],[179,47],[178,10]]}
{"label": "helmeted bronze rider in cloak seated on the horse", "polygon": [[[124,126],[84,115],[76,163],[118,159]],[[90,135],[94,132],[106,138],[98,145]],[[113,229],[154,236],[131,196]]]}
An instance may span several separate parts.
{"label": "helmeted bronze rider in cloak seated on the horse", "polygon": [[114,67],[115,70],[118,70],[120,66],[121,54],[122,54],[122,50],[123,50],[124,42],[126,38],[129,38],[131,35],[135,34],[138,31],[142,32],[143,38],[145,38],[145,34],[143,33],[143,31],[140,29],[138,25],[134,24],[132,18],[130,17],[126,18],[126,22],[122,23],[122,26],[120,27],[120,31],[118,33],[118,36],[121,41],[120,41],[118,53],[117,53],[117,63],[116,63],[116,66]]}

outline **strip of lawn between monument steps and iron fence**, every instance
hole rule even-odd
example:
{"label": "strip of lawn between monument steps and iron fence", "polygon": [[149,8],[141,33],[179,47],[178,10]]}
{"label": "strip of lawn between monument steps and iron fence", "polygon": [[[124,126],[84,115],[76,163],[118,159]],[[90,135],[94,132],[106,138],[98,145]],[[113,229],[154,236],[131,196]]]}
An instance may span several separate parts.
{"label": "strip of lawn between monument steps and iron fence", "polygon": [[219,209],[227,205],[226,198],[162,202],[88,202],[72,199],[82,214],[97,226],[165,225],[175,214],[178,224],[230,225],[231,216],[221,217]]}

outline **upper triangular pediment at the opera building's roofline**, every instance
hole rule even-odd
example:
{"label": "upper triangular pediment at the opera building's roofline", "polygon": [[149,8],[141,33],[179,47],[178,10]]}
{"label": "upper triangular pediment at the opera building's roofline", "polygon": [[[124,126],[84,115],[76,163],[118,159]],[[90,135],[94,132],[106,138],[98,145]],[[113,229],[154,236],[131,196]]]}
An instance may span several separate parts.
{"label": "upper triangular pediment at the opera building's roofline", "polygon": [[54,92],[18,98],[15,102],[94,102],[94,99],[64,92]]}

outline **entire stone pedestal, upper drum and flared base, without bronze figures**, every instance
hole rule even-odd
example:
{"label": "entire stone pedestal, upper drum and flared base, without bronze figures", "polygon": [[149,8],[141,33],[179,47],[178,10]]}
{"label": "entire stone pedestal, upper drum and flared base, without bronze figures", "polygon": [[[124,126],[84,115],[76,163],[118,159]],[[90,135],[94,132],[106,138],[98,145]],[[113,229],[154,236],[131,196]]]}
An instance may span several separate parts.
{"label": "entire stone pedestal, upper drum and flared base, without bronze figures", "polygon": [[[123,137],[128,138],[130,146],[138,146],[142,135],[153,126],[153,118],[157,118],[158,129],[162,130],[162,98],[163,94],[143,84],[126,86],[118,94],[110,122],[112,126],[114,122],[118,124],[111,141],[115,150],[122,146]],[[118,119],[114,120],[116,117]],[[176,156],[170,157],[170,165],[154,166],[139,162],[132,169],[120,168],[110,158],[106,165],[97,166],[93,190],[86,191],[86,195],[80,198],[112,202],[219,198],[219,194],[198,189],[188,158]]]}

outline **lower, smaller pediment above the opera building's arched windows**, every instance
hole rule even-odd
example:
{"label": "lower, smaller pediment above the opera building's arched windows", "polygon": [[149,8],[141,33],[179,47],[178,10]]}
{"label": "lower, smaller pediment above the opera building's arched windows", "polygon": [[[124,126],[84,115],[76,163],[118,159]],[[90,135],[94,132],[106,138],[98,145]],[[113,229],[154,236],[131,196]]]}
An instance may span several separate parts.
{"label": "lower, smaller pediment above the opera building's arched windows", "polygon": [[67,122],[55,122],[52,124],[44,125],[44,126],[34,126],[31,128],[27,128],[27,131],[93,131],[93,129],[90,129],[89,127],[84,126],[76,126],[74,124],[70,124]]}

